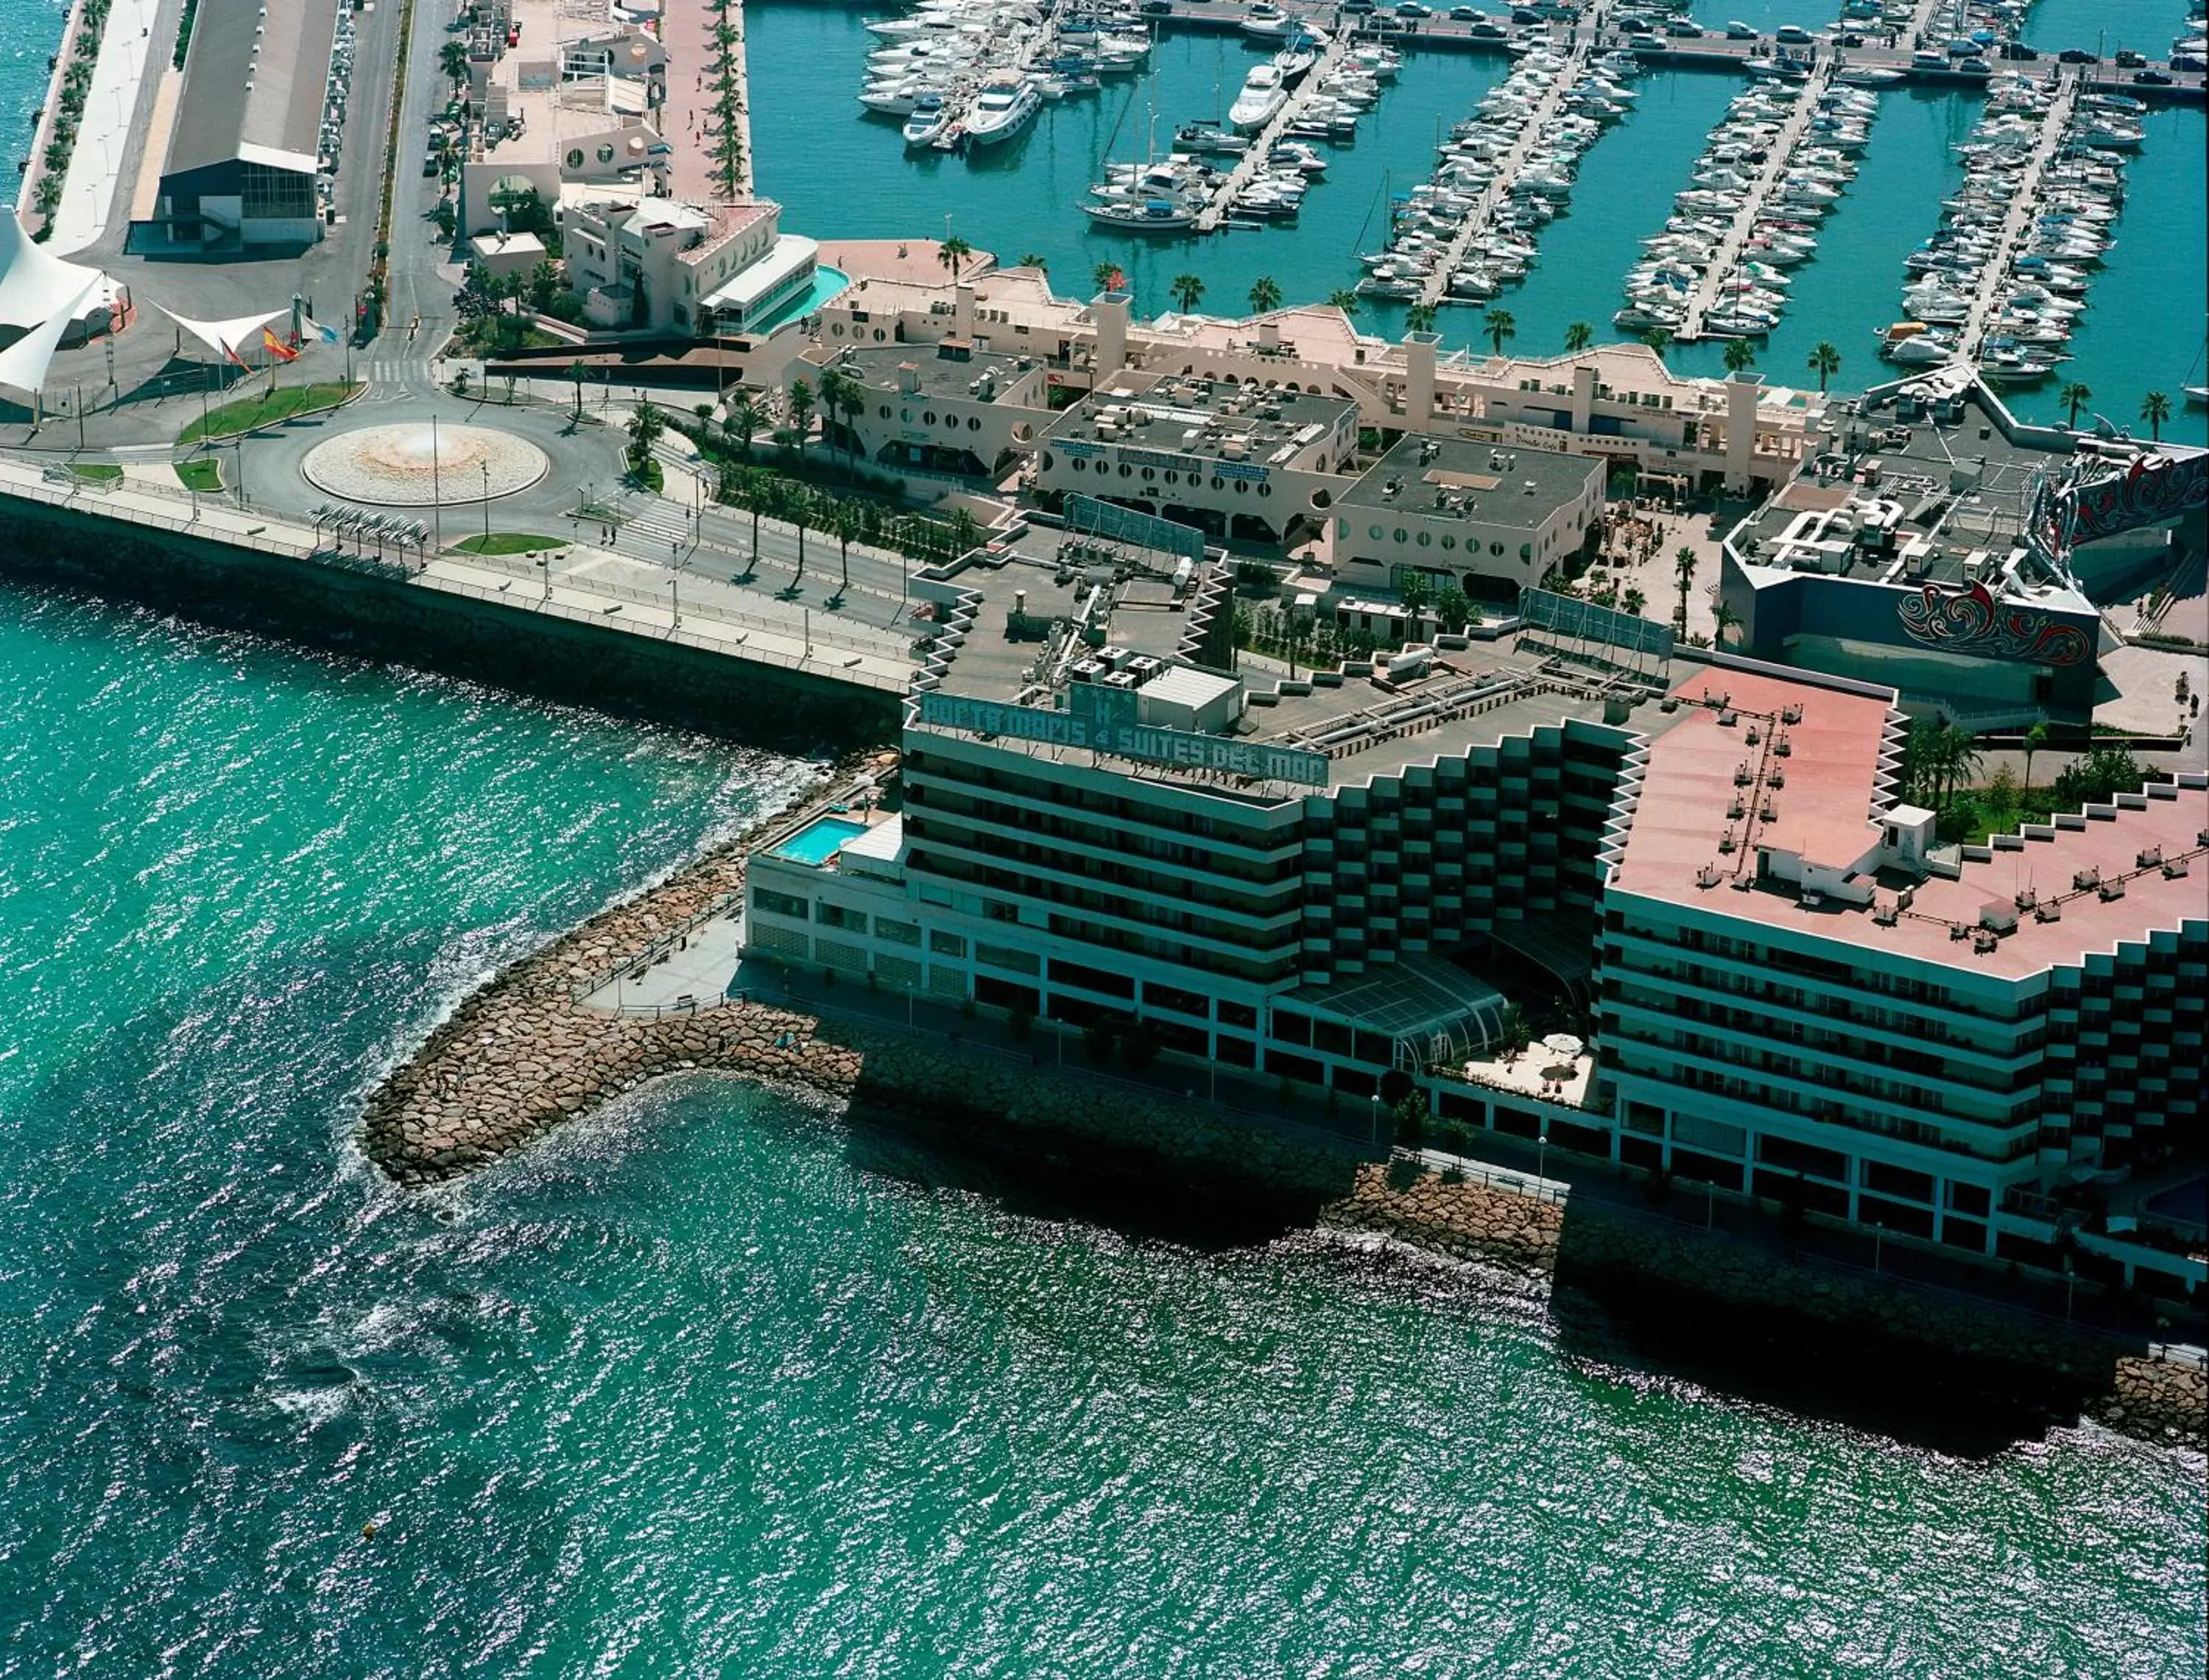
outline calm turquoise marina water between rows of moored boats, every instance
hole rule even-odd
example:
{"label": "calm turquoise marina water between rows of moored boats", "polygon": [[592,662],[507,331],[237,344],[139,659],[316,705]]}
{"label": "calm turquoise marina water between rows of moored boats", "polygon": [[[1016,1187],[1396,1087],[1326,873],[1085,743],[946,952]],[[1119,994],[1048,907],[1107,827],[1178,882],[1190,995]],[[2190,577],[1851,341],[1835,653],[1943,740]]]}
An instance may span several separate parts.
{"label": "calm turquoise marina water between rows of moored boats", "polygon": [[[2103,13],[2116,7],[2134,20],[2154,20],[2167,38],[2185,15],[2176,0],[2107,0],[2096,9],[2099,2],[2041,0],[2030,33],[2043,42],[2070,33],[2092,40],[2105,26]],[[1833,13],[1822,0],[1712,0],[1699,9],[1705,24],[1741,18],[1758,26],[1822,26]],[[1259,276],[1275,278],[1292,302],[1354,285],[1356,254],[1378,249],[1385,238],[1387,194],[1425,179],[1438,128],[1469,115],[1507,64],[1487,55],[1412,53],[1403,77],[1361,124],[1356,143],[1332,152],[1325,183],[1306,199],[1292,227],[1146,241],[1093,230],[1076,210],[1102,159],[1144,155],[1153,99],[1160,148],[1171,143],[1177,121],[1215,115],[1257,62],[1259,46],[1235,35],[1169,31],[1153,53],[1155,75],[1107,84],[1100,99],[1045,106],[1007,155],[981,163],[939,155],[908,161],[897,126],[868,117],[855,99],[875,40],[862,29],[862,9],[775,0],[753,4],[747,18],[760,188],[789,208],[793,227],[857,238],[934,236],[950,219],[956,234],[1003,260],[1047,258],[1060,294],[1089,296],[1096,265],[1118,263],[1138,311],[1151,313],[1171,307],[1171,280],[1184,272],[1204,280],[1199,309],[1217,313],[1241,313]],[[1741,82],[1672,71],[1639,86],[1635,115],[1582,159],[1568,214],[1542,232],[1542,260],[1526,285],[1495,300],[1515,318],[1513,349],[1560,351],[1575,320],[1613,336],[1619,278],[1639,241],[1663,225],[1672,194],[1688,185],[1712,121]],[[1798,302],[1758,355],[1767,380],[1809,384],[1805,358],[1820,340],[1842,351],[1842,386],[1891,375],[1873,358],[1875,333],[1895,318],[1902,258],[1937,225],[1940,201],[1957,179],[1953,146],[1977,113],[1979,99],[1968,93],[1882,97],[1862,177],[1827,219],[1825,252],[1796,272]],[[2127,422],[2143,393],[2165,391],[2174,400],[2174,437],[2196,437],[2205,424],[2200,411],[2178,413],[2178,389],[2202,380],[2205,139],[2200,108],[2154,117],[2147,152],[2132,168],[2136,185],[2118,254],[2110,278],[2094,289],[2094,327],[2081,333],[2076,364],[2065,371],[2094,391],[2123,393],[2110,404]],[[2171,331],[2167,309],[2143,313],[2138,300],[2149,294],[2182,300],[2185,333]],[[1394,333],[1403,307],[1367,300],[1361,318]],[[1478,347],[1482,309],[1445,307],[1438,331],[1447,344]],[[1716,373],[1723,349],[1679,347],[1670,355],[1681,371]],[[2019,408],[2052,417],[2054,384],[2021,397]]]}

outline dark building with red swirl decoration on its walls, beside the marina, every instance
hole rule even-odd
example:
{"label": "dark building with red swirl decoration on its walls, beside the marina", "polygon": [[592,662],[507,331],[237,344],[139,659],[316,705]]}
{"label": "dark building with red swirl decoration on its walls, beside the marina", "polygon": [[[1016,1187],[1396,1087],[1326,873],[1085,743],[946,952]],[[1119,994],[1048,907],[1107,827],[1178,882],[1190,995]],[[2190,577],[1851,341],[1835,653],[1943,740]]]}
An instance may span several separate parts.
{"label": "dark building with red swirl decoration on its walls, beside the marina", "polygon": [[2198,554],[2209,453],[2019,422],[1966,366],[1873,386],[1831,419],[1727,534],[1741,647],[1889,682],[1977,731],[2083,724],[2118,645],[2103,607]]}

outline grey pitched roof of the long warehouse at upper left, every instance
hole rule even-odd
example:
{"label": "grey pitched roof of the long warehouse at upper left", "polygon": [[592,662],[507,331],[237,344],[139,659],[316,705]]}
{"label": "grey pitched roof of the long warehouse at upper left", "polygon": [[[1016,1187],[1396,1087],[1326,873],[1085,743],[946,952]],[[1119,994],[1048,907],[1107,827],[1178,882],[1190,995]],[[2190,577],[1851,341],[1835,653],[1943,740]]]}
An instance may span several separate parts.
{"label": "grey pitched roof of the long warehouse at upper left", "polygon": [[163,174],[214,163],[309,172],[338,0],[199,0]]}

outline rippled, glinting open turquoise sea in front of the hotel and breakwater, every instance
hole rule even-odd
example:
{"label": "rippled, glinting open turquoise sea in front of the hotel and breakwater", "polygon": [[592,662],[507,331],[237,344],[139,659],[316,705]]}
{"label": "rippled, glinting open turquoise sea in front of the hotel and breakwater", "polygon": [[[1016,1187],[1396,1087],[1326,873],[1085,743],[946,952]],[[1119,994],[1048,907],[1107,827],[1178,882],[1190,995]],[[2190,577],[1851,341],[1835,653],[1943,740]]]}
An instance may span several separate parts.
{"label": "rippled, glinting open turquoise sea in front of the hotel and breakwater", "polygon": [[793,773],[0,592],[0,1673],[2200,1673],[2198,1455],[1902,1446],[727,1082],[358,1163]]}

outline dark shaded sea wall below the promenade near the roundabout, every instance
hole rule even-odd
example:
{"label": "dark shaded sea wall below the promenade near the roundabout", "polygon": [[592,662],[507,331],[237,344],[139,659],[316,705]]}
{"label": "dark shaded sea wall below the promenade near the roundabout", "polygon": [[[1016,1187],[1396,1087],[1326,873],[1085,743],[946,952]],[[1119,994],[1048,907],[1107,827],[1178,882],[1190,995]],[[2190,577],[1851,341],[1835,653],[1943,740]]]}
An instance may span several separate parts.
{"label": "dark shaded sea wall below the promenade near the roundabout", "polygon": [[0,497],[0,578],[758,746],[817,753],[897,731],[897,695],[811,671],[426,589],[398,567],[298,561],[13,497]]}

